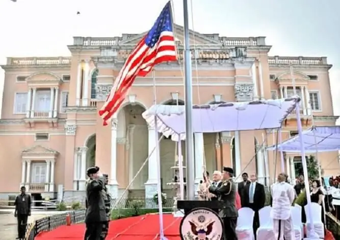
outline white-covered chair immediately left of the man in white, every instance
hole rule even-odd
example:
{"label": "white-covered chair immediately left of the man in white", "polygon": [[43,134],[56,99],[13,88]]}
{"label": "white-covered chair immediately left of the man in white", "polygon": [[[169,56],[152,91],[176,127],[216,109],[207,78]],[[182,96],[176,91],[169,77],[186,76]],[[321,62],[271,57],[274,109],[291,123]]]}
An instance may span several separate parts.
{"label": "white-covered chair immediately left of the man in white", "polygon": [[271,206],[266,206],[258,211],[260,226],[256,231],[256,239],[272,240],[275,238],[273,220],[270,217]]}

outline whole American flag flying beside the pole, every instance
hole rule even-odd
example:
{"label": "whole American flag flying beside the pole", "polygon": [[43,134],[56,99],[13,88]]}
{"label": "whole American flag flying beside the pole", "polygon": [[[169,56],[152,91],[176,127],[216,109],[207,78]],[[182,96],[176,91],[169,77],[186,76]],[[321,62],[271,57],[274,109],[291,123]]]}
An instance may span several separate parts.
{"label": "whole American flag flying beside the pole", "polygon": [[169,1],[151,30],[130,53],[120,70],[106,102],[99,110],[103,125],[108,125],[113,114],[123,103],[136,77],[145,77],[156,64],[176,60],[171,3]]}

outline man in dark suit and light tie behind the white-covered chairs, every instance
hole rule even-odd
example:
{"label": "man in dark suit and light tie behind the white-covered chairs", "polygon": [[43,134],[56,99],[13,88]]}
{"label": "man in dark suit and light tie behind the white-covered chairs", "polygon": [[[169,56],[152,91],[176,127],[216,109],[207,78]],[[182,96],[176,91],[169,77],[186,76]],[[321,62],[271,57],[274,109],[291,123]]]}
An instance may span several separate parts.
{"label": "man in dark suit and light tie behind the white-covered chairs", "polygon": [[255,212],[253,230],[256,236],[256,230],[259,227],[258,210],[263,208],[266,202],[265,186],[257,182],[256,174],[250,175],[250,184],[245,187],[244,193],[245,207],[249,207]]}

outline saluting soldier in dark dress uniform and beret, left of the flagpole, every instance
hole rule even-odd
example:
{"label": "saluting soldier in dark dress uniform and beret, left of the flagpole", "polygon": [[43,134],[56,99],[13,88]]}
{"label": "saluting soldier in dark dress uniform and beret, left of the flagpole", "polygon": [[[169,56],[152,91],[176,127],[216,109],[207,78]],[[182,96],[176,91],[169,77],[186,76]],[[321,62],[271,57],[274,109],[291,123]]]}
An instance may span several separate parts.
{"label": "saluting soldier in dark dress uniform and beret, left of the flagpole", "polygon": [[105,203],[103,198],[104,179],[98,174],[99,167],[92,166],[87,170],[90,178],[86,185],[86,214],[85,240],[98,240],[102,232],[103,223],[107,222]]}

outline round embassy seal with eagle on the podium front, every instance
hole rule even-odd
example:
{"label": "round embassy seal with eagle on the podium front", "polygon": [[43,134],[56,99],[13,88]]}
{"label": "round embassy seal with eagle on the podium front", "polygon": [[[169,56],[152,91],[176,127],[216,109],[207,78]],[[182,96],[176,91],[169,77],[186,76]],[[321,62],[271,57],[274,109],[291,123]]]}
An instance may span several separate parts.
{"label": "round embassy seal with eagle on the podium front", "polygon": [[215,211],[195,208],[180,222],[179,234],[182,240],[221,240],[223,223]]}

